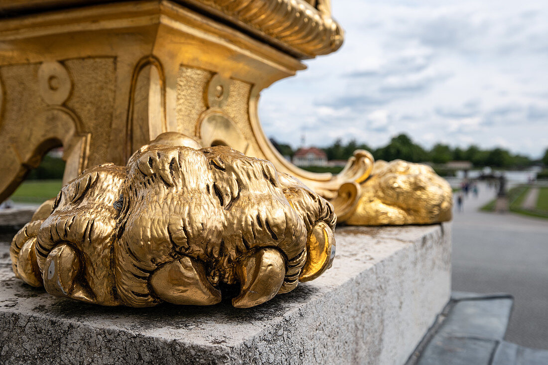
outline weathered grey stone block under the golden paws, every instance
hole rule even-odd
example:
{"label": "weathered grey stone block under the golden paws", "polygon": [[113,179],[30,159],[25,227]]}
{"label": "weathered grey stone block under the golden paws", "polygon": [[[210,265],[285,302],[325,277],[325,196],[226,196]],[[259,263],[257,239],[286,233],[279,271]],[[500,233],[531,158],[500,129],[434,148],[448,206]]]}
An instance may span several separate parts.
{"label": "weathered grey stone block under the golden paws", "polygon": [[253,309],[59,299],[0,244],[0,362],[402,364],[450,296],[450,225],[340,227],[332,269]]}

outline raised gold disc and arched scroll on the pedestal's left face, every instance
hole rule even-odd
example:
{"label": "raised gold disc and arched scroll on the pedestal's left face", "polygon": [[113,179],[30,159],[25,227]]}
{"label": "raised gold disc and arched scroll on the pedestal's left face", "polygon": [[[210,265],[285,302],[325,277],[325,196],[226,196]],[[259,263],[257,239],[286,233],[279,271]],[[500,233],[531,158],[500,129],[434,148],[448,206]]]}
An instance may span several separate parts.
{"label": "raised gold disc and arched scroll on the pedestal's left face", "polygon": [[[35,68],[35,78],[27,83],[36,83],[36,89],[14,89],[10,92],[28,95],[35,100],[29,102],[30,108],[35,108],[36,114],[30,120],[21,122],[20,129],[14,124],[6,124],[4,134],[0,134],[0,151],[3,157],[3,176],[0,179],[0,201],[7,198],[20,184],[26,172],[38,167],[46,152],[54,147],[64,147],[63,159],[66,161],[63,181],[73,179],[87,167],[89,158],[90,133],[86,132],[81,121],[65,104],[70,100],[73,90],[73,80],[65,65],[57,61],[44,61],[39,65],[20,66]],[[4,75],[8,75],[6,71]],[[25,83],[21,83],[21,88]],[[19,86],[19,85],[18,85]],[[12,80],[12,87],[13,80]],[[9,122],[14,123],[13,98],[6,99],[3,87],[0,115],[8,113]],[[5,106],[9,100],[10,104]],[[16,100],[16,102],[21,102]],[[25,101],[22,101],[25,102]],[[45,104],[45,105],[44,105]],[[31,126],[30,128],[28,126]],[[4,130],[4,129],[3,129]],[[14,130],[19,130],[14,134]]]}

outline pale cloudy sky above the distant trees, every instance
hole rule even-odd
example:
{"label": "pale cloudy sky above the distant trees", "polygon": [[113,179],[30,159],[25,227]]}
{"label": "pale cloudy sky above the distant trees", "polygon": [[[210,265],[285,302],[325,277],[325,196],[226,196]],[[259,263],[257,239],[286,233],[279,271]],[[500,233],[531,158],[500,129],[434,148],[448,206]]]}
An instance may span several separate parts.
{"label": "pale cloudy sky above the distant trees", "polygon": [[372,147],[409,134],[539,157],[548,147],[548,1],[332,0],[336,53],[262,92],[269,137]]}

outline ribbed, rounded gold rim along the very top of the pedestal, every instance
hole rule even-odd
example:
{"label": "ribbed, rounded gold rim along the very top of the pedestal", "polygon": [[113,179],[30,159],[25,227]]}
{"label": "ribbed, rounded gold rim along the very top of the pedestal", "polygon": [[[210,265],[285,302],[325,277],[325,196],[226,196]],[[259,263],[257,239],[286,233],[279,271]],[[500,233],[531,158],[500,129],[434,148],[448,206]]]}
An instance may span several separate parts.
{"label": "ribbed, rounded gold rim along the very top of the pedestal", "polygon": [[[106,1],[105,1],[106,2]],[[335,52],[344,32],[331,16],[330,0],[174,0],[219,17],[262,41],[297,56],[313,58]],[[22,15],[38,9],[95,5],[91,0],[10,0],[0,4],[0,14]]]}

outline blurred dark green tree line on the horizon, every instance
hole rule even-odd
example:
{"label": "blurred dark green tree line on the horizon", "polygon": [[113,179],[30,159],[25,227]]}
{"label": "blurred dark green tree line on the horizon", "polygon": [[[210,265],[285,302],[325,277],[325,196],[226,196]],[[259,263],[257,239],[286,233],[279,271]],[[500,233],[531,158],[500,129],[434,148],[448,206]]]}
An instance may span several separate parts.
{"label": "blurred dark green tree line on the horizon", "polygon": [[[271,139],[272,144],[284,156],[293,157],[294,151],[288,144],[282,144]],[[520,168],[533,166],[543,163],[548,166],[548,149],[541,159],[532,159],[525,155],[514,154],[502,148],[484,150],[478,146],[471,145],[467,149],[452,147],[438,143],[430,150],[416,144],[406,134],[400,134],[390,140],[383,147],[373,149],[366,144],[358,144],[356,140],[351,140],[346,144],[341,139],[336,140],[332,145],[323,147],[321,150],[327,154],[327,159],[348,159],[355,150],[367,150],[373,153],[375,159],[384,159],[392,161],[401,158],[409,162],[432,162],[443,164],[449,161],[470,161],[475,167],[501,167],[501,168]]]}

